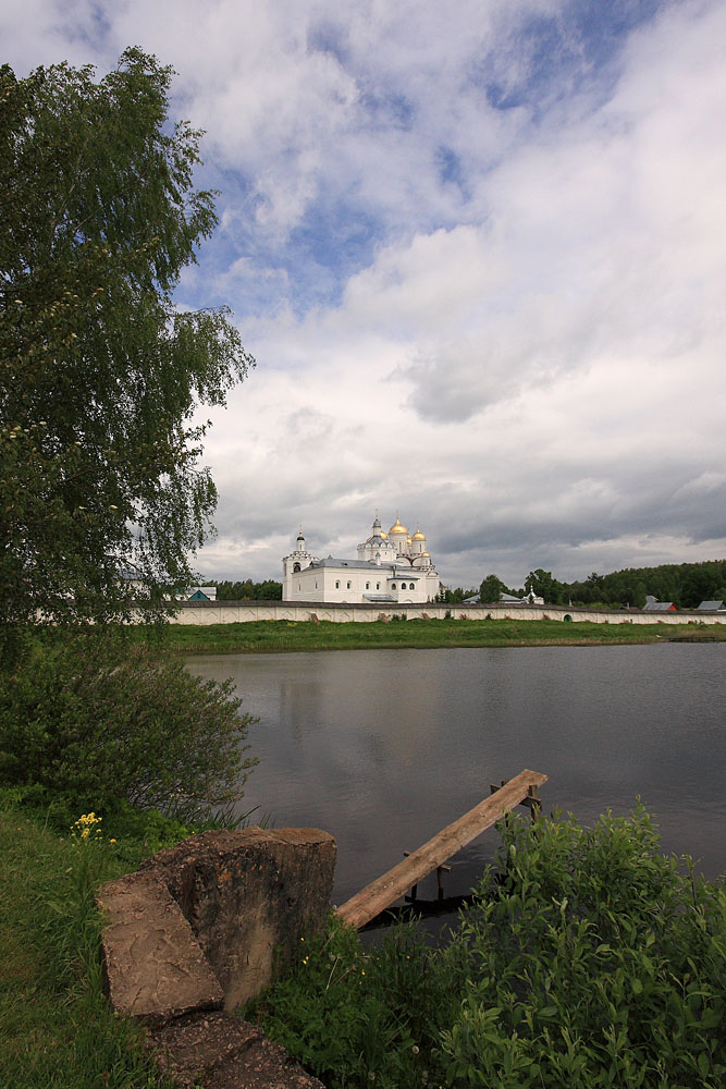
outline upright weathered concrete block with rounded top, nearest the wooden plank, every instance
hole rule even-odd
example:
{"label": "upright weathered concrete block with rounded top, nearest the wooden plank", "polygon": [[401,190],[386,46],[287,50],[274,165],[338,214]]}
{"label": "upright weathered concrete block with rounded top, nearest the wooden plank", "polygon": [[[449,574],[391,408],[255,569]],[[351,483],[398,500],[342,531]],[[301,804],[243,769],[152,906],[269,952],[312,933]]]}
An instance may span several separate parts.
{"label": "upright weathered concrete block with rounded top, nearest the wooden plank", "polygon": [[[335,841],[317,829],[211,831],[144,864],[162,881],[234,1010],[321,933],[330,911]],[[273,954],[276,954],[273,959]]]}

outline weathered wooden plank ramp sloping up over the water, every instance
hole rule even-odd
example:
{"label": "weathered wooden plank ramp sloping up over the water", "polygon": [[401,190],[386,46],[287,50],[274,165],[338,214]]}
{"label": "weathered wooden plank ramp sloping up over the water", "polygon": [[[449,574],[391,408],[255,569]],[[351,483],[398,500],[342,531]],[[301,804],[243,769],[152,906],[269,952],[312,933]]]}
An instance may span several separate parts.
{"label": "weathered wooden plank ramp sloping up over the water", "polygon": [[484,798],[473,809],[469,809],[468,813],[464,813],[453,824],[442,829],[423,846],[411,851],[403,862],[398,862],[392,870],[361,889],[339,907],[335,914],[356,930],[365,927],[424,877],[439,869],[457,851],[510,812],[515,806],[528,804],[534,812],[534,808],[539,808],[538,788],[546,781],[547,776],[541,772],[525,769],[501,787],[492,787],[495,793],[491,797]]}

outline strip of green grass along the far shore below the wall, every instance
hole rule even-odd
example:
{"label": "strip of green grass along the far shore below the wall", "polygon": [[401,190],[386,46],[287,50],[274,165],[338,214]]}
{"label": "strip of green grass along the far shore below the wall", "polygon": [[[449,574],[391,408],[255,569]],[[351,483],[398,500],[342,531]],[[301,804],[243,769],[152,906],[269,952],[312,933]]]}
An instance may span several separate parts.
{"label": "strip of green grass along the far shore below the wall", "polygon": [[521,620],[409,620],[385,624],[256,621],[246,624],[172,624],[165,646],[183,653],[367,650],[394,647],[579,647],[707,638],[726,641],[726,625],[592,624]]}

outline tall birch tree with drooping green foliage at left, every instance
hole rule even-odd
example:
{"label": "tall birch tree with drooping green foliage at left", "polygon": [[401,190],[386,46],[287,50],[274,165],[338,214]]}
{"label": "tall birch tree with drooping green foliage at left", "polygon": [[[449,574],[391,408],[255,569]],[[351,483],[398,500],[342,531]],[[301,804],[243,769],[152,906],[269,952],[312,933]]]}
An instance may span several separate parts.
{"label": "tall birch tree with drooping green foliage at left", "polygon": [[171,77],[138,49],[99,83],[0,68],[3,664],[27,623],[163,612],[214,507],[190,418],[253,360],[224,309],[173,305],[216,216]]}

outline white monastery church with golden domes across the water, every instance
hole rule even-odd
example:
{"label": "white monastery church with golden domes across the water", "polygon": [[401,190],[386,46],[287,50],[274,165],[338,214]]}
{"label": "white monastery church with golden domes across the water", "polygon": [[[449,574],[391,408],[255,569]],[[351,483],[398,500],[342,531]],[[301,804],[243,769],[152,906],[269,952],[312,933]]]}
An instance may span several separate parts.
{"label": "white monastery church with golden domes across the water", "polygon": [[396,516],[387,534],[378,515],[357,560],[319,560],[305,547],[300,529],[295,550],[282,561],[283,601],[346,603],[433,601],[439,573],[426,548],[426,534],[409,535]]}

